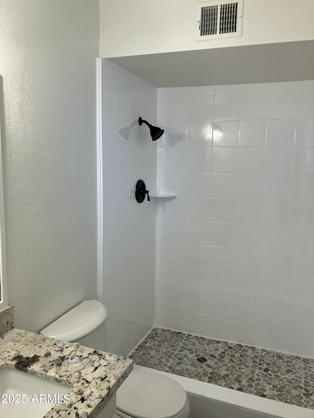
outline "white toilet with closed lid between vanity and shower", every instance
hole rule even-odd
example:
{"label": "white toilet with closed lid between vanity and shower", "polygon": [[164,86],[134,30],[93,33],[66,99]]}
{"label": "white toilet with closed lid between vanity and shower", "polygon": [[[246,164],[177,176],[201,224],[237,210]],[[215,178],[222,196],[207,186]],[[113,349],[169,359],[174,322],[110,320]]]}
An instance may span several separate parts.
{"label": "white toilet with closed lid between vanity and shower", "polygon": [[[98,300],[86,300],[41,331],[46,337],[105,351],[107,310]],[[188,418],[183,387],[162,373],[134,368],[117,391],[120,418]]]}

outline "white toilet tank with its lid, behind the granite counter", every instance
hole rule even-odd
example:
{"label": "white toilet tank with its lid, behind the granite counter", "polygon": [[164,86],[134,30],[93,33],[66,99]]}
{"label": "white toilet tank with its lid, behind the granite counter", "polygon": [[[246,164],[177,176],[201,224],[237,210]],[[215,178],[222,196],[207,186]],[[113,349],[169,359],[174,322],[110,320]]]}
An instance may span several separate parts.
{"label": "white toilet tank with its lid, behind the granite counter", "polygon": [[107,310],[98,300],[85,300],[40,333],[67,342],[105,351]]}

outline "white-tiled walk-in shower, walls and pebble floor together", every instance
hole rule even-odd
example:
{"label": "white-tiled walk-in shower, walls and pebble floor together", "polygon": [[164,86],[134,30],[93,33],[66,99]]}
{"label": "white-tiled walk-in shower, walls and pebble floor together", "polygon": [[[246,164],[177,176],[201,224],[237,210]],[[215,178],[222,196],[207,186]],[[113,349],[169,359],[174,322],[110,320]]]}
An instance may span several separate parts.
{"label": "white-tiled walk-in shower, walls and pebble floor together", "polygon": [[[156,89],[106,60],[99,74],[108,351],[138,345],[140,365],[218,385],[223,361],[239,380],[225,387],[311,408],[314,81]],[[139,117],[164,135],[152,142]],[[139,179],[173,197],[139,205]],[[246,360],[242,378],[227,359]],[[291,393],[255,391],[254,368],[257,382],[291,373]]]}

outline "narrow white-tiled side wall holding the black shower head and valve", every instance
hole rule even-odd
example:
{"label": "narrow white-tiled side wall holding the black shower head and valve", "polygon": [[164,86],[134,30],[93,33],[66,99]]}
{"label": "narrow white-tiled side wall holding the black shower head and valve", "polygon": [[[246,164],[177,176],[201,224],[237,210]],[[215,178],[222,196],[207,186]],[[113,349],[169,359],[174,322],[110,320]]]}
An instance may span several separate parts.
{"label": "narrow white-tiled side wall holding the black shower head and valve", "polygon": [[154,324],[156,207],[134,199],[142,178],[156,189],[157,146],[142,116],[156,123],[157,89],[102,60],[103,283],[106,350],[128,355]]}

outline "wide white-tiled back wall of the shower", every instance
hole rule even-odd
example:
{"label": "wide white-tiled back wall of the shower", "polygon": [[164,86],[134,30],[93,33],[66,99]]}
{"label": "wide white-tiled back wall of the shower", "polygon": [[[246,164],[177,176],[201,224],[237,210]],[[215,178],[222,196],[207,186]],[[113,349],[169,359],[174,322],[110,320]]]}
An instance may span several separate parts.
{"label": "wide white-tiled back wall of the shower", "polygon": [[314,81],[158,89],[158,124],[155,323],[314,357]]}

